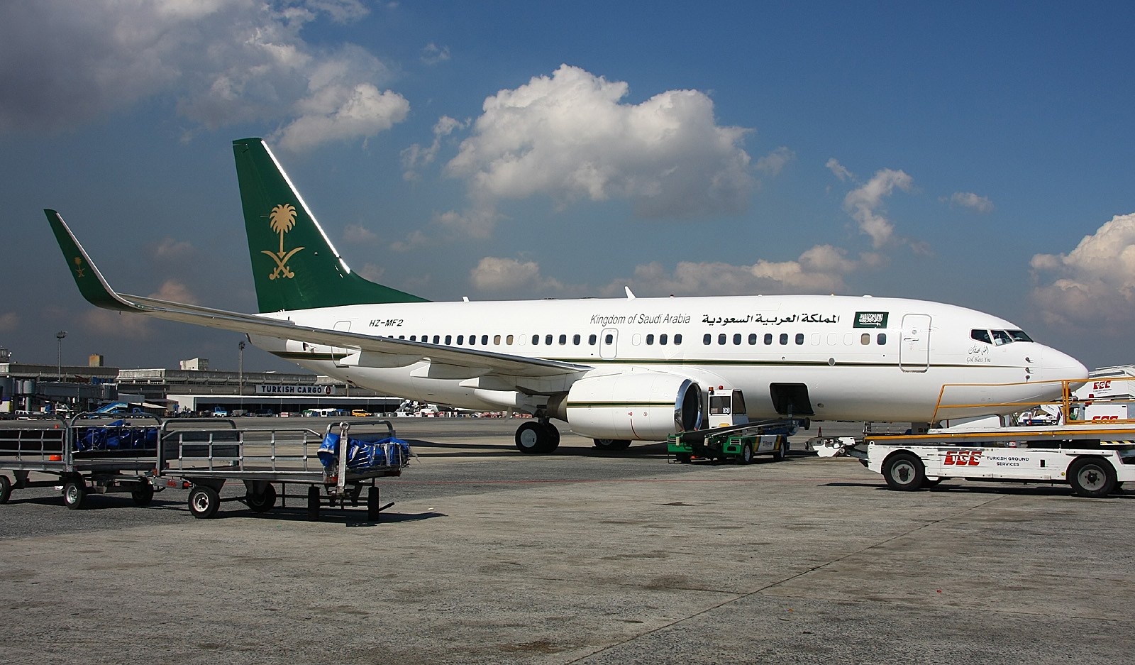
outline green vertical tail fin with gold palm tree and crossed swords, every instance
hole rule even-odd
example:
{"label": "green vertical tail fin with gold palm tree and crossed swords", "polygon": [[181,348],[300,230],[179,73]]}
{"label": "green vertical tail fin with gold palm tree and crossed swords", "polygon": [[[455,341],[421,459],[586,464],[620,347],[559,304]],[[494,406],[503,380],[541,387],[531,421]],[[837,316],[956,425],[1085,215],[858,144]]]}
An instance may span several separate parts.
{"label": "green vertical tail fin with gold palm tree and crossed swords", "polygon": [[233,142],[261,312],[426,298],[353,272],[261,138]]}

